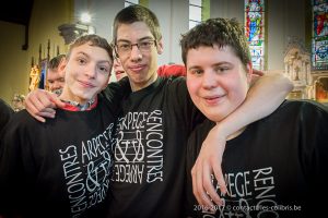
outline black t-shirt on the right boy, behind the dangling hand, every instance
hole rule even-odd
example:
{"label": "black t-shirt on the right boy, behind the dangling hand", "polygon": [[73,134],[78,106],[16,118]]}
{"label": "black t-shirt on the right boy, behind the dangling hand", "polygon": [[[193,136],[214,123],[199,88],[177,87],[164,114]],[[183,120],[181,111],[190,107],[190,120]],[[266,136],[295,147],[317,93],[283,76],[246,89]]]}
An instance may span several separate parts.
{"label": "black t-shirt on the right boy, behind the dangling hand", "polygon": [[[216,214],[202,211],[197,204],[190,174],[213,125],[206,120],[189,138],[188,217],[315,217],[325,210],[320,199],[327,197],[328,182],[326,107],[284,101],[272,114],[227,141],[222,167],[230,196],[223,197],[225,207],[215,206]],[[215,180],[214,185],[220,193]]]}

